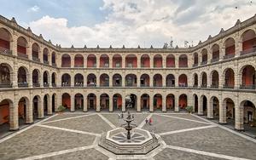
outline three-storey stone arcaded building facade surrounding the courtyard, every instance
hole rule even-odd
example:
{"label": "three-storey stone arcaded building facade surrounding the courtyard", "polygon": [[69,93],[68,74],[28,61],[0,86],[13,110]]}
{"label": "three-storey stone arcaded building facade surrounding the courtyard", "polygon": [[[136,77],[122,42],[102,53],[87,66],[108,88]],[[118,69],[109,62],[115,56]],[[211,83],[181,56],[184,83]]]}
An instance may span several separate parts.
{"label": "three-storey stone arcaded building facade surrounding the courtyard", "polygon": [[188,49],[61,48],[0,17],[0,123],[19,129],[69,111],[183,111],[256,118],[256,15]]}

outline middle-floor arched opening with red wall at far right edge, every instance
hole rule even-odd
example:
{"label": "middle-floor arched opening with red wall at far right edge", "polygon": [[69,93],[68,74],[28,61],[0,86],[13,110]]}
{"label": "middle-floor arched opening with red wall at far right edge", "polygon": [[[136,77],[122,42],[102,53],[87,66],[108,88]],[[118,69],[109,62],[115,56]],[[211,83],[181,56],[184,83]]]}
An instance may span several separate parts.
{"label": "middle-floor arched opening with red wall at far right edge", "polygon": [[255,68],[253,66],[244,66],[241,71],[241,89],[255,89]]}

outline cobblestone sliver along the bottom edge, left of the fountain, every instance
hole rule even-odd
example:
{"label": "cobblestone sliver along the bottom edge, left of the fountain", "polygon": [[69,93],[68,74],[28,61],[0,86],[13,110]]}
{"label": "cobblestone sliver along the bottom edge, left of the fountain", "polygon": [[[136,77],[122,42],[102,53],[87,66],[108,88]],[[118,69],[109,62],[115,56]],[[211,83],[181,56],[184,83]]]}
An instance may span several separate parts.
{"label": "cobblestone sliver along the bottom edge, left of the fountain", "polygon": [[96,151],[95,149],[88,149],[84,151],[74,151],[72,153],[62,154],[59,156],[54,157],[46,157],[42,160],[90,160],[90,159],[96,159],[96,160],[107,160],[108,157],[102,154],[100,151]]}

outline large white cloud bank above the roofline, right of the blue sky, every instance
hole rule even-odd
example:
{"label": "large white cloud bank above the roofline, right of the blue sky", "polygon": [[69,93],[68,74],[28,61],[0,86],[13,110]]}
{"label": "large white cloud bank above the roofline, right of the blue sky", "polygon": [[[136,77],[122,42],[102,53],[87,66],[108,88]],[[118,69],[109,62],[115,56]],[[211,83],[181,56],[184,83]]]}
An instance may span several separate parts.
{"label": "large white cloud bank above the roofline, right of the blue sky", "polygon": [[[218,34],[220,28],[228,29],[237,19],[246,20],[253,16],[256,5],[243,0],[195,0],[195,3],[175,0],[103,0],[101,9],[111,13],[106,20],[89,26],[67,26],[67,19],[44,16],[32,21],[29,26],[45,39],[61,43],[62,47],[154,47],[161,48],[173,37],[175,45],[183,46],[189,41],[194,45],[206,40],[209,34]],[[239,9],[235,9],[239,6]]]}

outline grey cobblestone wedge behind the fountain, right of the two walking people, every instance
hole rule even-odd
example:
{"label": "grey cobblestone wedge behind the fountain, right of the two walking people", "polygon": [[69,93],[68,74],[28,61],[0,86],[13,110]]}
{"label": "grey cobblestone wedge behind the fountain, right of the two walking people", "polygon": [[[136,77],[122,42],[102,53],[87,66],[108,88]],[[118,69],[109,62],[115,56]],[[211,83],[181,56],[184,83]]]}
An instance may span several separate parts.
{"label": "grey cobblestone wedge behind the fountain, right of the two walking people", "polygon": [[172,117],[162,117],[159,115],[153,115],[152,119],[153,125],[144,125],[143,129],[147,129],[149,131],[154,130],[154,133],[163,133],[179,129],[190,129],[208,125],[204,123],[195,123]]}

